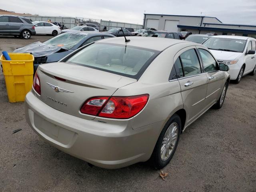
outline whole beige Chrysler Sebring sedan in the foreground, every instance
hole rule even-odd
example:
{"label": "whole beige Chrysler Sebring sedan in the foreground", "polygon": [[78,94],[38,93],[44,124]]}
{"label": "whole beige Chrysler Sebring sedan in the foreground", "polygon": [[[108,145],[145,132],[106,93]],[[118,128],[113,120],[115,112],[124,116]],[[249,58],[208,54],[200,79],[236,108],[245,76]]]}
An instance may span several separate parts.
{"label": "whole beige Chrysler Sebring sedan in the foreground", "polygon": [[170,162],[180,134],[221,108],[230,76],[194,42],[108,38],[40,65],[26,120],[52,146],[102,168]]}

